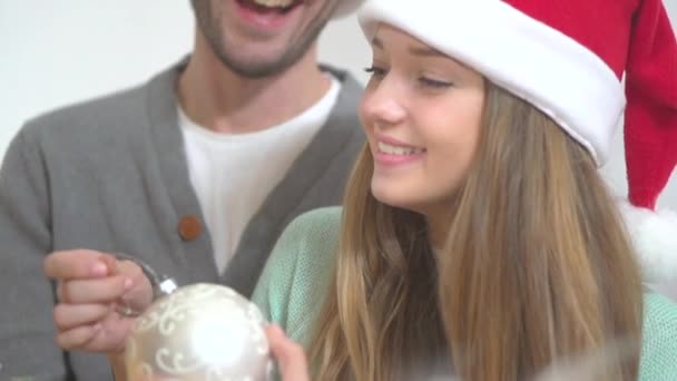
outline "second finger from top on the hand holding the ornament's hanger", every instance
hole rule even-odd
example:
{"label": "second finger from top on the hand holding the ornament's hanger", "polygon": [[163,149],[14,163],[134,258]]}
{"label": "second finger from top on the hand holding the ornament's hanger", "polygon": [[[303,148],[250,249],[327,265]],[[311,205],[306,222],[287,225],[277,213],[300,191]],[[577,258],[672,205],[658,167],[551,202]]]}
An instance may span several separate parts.
{"label": "second finger from top on the hand holding the ornament's hanger", "polygon": [[72,280],[60,285],[60,297],[70,304],[110,303],[120,299],[133,286],[134,281],[124,275]]}

